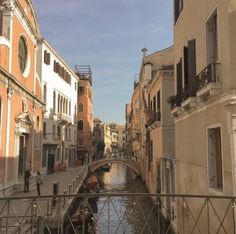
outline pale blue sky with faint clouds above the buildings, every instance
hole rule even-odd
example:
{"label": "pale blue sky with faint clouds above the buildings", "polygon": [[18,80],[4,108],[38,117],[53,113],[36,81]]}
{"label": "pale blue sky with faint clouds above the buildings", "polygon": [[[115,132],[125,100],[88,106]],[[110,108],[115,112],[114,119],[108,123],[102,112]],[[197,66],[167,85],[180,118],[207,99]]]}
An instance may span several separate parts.
{"label": "pale blue sky with faint clouds above the buildings", "polygon": [[93,115],[125,123],[142,48],[173,44],[172,0],[33,0],[41,36],[72,69],[90,65]]}

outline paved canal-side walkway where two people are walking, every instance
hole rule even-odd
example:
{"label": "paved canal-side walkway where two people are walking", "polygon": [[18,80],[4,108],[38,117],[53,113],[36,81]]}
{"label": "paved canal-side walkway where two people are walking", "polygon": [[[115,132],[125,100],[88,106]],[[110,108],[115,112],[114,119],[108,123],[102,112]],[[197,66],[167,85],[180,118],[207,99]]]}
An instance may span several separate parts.
{"label": "paved canal-side walkway where two people are walking", "polygon": [[[28,193],[24,193],[22,186],[22,189],[19,189],[18,192],[5,198],[0,198],[0,233],[18,233],[19,228],[21,233],[34,233],[32,232],[32,218],[34,215],[37,217],[50,217],[51,221],[55,221],[54,216],[58,214],[55,213],[57,208],[52,207],[53,198],[48,199],[44,198],[44,196],[53,195],[53,185],[55,183],[59,185],[59,195],[77,193],[87,175],[87,168],[85,165],[45,175],[41,186],[41,196],[37,196],[36,186],[33,184],[35,183],[35,175],[33,174]],[[71,202],[72,199],[67,199],[63,203],[63,210],[60,211],[61,217],[64,212],[67,212]],[[57,217],[58,221],[59,219]]]}

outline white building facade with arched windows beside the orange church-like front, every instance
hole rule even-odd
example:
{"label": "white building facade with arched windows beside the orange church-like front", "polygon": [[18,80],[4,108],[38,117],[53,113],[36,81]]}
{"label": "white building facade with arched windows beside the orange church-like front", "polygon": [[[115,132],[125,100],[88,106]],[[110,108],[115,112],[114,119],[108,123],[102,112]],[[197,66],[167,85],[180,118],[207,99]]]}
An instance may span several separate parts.
{"label": "white building facade with arched windows beside the orange church-like front", "polygon": [[44,173],[49,174],[75,165],[79,78],[44,39],[38,42],[37,61],[46,104],[42,168]]}

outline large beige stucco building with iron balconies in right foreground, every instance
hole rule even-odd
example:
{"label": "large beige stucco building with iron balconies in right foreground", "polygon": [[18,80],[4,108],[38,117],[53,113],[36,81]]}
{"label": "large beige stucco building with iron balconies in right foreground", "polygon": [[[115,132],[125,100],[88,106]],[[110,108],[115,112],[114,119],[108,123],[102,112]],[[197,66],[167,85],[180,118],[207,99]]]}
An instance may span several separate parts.
{"label": "large beige stucco building with iron balconies in right foreground", "polygon": [[[176,193],[235,196],[235,1],[176,0],[174,16]],[[178,233],[182,208],[177,201]],[[211,218],[214,230],[218,221]],[[207,220],[201,221],[206,233]],[[230,228],[227,220],[224,225]]]}

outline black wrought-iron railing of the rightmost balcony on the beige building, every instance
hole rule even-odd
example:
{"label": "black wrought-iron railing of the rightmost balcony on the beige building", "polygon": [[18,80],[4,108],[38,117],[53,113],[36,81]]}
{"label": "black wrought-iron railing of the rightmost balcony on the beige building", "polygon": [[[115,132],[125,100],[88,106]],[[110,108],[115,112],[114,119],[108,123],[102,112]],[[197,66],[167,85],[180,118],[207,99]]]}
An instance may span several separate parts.
{"label": "black wrought-iron railing of the rightmost balcony on the beige building", "polygon": [[206,66],[196,77],[197,91],[211,82],[219,82],[219,63],[211,63]]}

